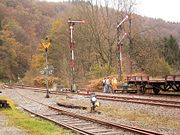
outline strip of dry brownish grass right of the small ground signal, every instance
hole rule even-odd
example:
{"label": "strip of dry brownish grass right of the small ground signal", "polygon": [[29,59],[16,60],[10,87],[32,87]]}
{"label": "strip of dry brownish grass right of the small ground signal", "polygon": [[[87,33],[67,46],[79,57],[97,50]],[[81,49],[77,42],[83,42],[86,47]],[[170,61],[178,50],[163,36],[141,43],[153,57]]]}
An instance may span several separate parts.
{"label": "strip of dry brownish grass right of the small ground signal", "polygon": [[[110,110],[110,111],[109,111]],[[122,107],[111,107],[111,106],[101,106],[99,111],[103,112],[105,115],[109,115],[114,118],[127,119],[129,121],[138,121],[143,125],[152,125],[153,127],[163,126],[166,128],[176,128],[180,127],[180,119],[173,116],[163,116],[148,113],[140,110],[127,110]],[[173,110],[172,110],[173,111]]]}

